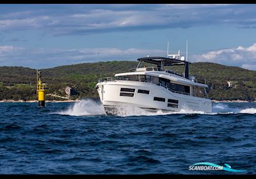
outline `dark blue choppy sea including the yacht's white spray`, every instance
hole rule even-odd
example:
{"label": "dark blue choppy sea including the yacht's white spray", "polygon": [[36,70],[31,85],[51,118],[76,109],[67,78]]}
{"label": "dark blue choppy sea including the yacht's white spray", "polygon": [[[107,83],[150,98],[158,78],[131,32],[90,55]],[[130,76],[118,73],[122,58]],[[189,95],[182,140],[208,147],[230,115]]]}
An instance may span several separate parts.
{"label": "dark blue choppy sea including the yacht's white spray", "polygon": [[106,116],[99,102],[0,103],[0,174],[256,174],[256,103]]}

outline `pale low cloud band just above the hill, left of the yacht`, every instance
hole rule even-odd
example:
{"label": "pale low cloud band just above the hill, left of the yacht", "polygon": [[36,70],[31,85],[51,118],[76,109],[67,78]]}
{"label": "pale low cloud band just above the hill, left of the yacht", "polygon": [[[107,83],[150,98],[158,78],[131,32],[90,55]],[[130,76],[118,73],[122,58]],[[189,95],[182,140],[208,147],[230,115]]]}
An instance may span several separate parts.
{"label": "pale low cloud band just above the hill, left of the yacht", "polygon": [[23,49],[13,46],[0,46],[1,66],[26,66],[49,68],[53,66],[92,63],[97,61],[128,60],[136,61],[143,56],[159,56],[165,51],[157,49]]}

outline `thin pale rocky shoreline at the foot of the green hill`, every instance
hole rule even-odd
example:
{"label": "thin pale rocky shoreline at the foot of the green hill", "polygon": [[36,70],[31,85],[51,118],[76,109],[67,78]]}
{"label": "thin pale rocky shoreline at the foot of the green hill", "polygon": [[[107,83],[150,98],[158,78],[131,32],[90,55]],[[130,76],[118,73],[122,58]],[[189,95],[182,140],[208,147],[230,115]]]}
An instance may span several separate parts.
{"label": "thin pale rocky shoreline at the foot of the green hill", "polygon": [[[45,100],[45,102],[79,102],[81,100]],[[37,100],[0,100],[0,102],[38,102]],[[212,100],[212,102],[249,102],[246,100]],[[256,101],[253,101],[256,102]]]}

